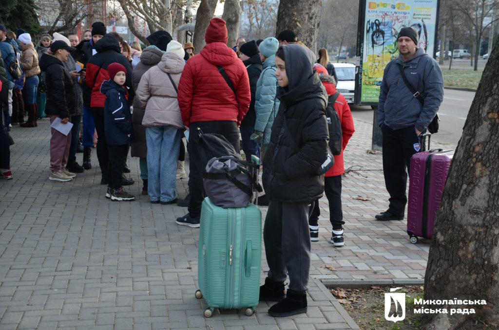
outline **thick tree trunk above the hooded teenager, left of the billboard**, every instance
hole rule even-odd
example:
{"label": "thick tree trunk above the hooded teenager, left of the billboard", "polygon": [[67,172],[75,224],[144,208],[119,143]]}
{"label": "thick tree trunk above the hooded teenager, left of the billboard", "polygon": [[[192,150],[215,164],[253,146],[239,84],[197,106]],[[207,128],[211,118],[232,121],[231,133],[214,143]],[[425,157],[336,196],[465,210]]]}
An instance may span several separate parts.
{"label": "thick tree trunk above the hooded teenager, left of the billboard", "polygon": [[279,1],[276,37],[283,30],[292,30],[298,41],[317,53],[321,0]]}

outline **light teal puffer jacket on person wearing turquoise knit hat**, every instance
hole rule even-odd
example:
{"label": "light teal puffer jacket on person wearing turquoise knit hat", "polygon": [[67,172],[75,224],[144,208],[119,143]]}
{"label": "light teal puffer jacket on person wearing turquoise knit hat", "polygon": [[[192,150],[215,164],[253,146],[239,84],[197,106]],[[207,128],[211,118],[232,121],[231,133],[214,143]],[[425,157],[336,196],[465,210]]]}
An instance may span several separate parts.
{"label": "light teal puffer jacket on person wearing turquoise knit hat", "polygon": [[270,143],[270,129],[277,115],[280,101],[275,97],[277,91],[277,77],[275,76],[275,55],[263,62],[263,69],[256,82],[254,111],[256,121],[254,130],[263,132],[263,144]]}

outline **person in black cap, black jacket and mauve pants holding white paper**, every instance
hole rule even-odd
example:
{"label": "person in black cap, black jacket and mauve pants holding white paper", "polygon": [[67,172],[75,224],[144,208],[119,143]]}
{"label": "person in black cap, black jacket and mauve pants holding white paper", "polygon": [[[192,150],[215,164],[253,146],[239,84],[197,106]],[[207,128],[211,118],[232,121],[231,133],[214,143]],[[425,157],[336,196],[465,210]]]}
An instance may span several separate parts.
{"label": "person in black cap, black jacket and mauve pants holding white paper", "polygon": [[[62,40],[50,45],[50,54],[44,53],[40,59],[40,69],[45,71],[47,104],[45,113],[50,117],[50,175],[54,181],[71,181],[76,176],[65,165],[71,145],[71,115],[74,114],[74,88],[71,76],[64,68],[69,52],[75,50]],[[54,128],[55,127],[55,128]],[[67,132],[64,132],[67,130]]]}

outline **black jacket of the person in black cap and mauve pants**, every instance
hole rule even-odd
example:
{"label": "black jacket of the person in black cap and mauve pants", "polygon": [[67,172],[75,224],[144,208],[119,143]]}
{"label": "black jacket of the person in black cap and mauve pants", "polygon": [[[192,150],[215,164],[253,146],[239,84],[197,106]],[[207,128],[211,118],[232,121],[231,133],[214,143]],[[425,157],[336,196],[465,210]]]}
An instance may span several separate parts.
{"label": "black jacket of the person in black cap and mauve pants", "polygon": [[47,103],[45,113],[68,118],[75,113],[73,80],[64,68],[64,64],[55,56],[43,53],[39,62],[45,72],[47,85]]}

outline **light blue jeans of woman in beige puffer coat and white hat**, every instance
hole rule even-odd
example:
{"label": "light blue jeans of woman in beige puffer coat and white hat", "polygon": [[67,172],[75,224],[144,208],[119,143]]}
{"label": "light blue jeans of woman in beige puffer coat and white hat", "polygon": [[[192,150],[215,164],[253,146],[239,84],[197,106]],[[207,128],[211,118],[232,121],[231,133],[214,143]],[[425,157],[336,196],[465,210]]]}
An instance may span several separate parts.
{"label": "light blue jeans of woman in beige puffer coat and white hat", "polygon": [[173,126],[146,127],[147,192],[151,201],[177,198],[177,160],[182,131]]}

